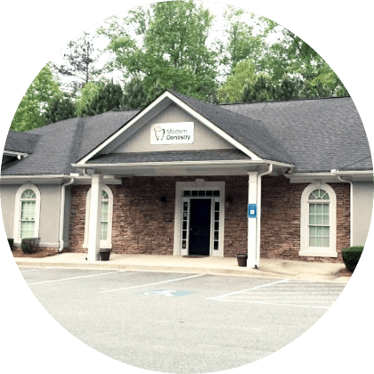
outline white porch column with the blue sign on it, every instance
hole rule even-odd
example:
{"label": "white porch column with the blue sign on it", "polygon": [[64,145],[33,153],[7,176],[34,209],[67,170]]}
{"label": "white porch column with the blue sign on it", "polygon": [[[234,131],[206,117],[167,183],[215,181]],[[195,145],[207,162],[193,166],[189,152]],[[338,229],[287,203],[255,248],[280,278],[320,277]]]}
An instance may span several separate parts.
{"label": "white porch column with the blue sign on it", "polygon": [[[248,173],[248,204],[256,204],[256,206],[257,206],[257,174],[258,173],[256,172]],[[248,217],[247,267],[252,267],[252,268],[256,267],[256,241],[257,241],[256,238],[257,238],[257,218]]]}

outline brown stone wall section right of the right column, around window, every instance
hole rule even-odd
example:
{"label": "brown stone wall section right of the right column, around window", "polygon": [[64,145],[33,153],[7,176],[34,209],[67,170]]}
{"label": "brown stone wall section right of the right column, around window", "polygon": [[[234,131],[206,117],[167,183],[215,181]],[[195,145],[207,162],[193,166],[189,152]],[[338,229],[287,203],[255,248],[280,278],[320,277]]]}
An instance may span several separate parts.
{"label": "brown stone wall section right of the right column, around window", "polygon": [[337,258],[298,256],[301,195],[309,183],[269,176],[262,186],[261,257],[342,262],[341,250],[350,246],[350,185],[328,184],[337,195]]}

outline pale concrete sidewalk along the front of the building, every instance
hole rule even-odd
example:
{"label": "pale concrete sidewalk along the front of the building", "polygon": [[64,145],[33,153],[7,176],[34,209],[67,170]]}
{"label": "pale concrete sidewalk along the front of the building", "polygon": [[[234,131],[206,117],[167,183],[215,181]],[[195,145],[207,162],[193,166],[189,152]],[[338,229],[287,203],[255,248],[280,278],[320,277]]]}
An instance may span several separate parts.
{"label": "pale concrete sidewalk along the front of the building", "polygon": [[346,283],[349,277],[338,277],[345,264],[325,264],[264,258],[258,269],[239,267],[232,257],[181,257],[111,254],[110,261],[88,262],[84,253],[61,253],[44,258],[16,257],[19,266],[68,267],[88,269],[128,269],[152,272],[187,272],[240,275],[298,280],[333,280]]}

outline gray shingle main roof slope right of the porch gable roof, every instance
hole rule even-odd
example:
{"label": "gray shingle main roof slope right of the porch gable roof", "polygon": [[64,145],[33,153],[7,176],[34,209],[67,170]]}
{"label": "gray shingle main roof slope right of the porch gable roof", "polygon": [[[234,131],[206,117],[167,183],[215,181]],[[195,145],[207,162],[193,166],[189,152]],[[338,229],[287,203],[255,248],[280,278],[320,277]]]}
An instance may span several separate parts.
{"label": "gray shingle main roof slope right of the porch gable roof", "polygon": [[[261,119],[268,131],[295,159],[295,172],[341,169],[354,160],[371,159],[362,119],[350,97],[253,102],[224,108]],[[358,170],[372,169],[359,162]]]}

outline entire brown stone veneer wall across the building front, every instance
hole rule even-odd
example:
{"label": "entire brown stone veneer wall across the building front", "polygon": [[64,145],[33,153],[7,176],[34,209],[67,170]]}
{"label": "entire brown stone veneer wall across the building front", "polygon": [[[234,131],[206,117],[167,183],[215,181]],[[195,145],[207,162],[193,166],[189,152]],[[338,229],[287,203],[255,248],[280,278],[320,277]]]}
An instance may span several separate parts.
{"label": "entire brown stone veneer wall across the building front", "polygon": [[[247,251],[247,176],[159,176],[123,178],[110,185],[113,192],[112,250],[114,253],[173,255],[175,182],[224,181],[224,256]],[[349,247],[349,184],[331,183],[337,193],[337,259],[299,257],[300,199],[307,183],[289,183],[284,177],[264,177],[262,195],[261,257],[341,261],[341,249]],[[70,251],[82,248],[85,234],[85,197],[89,186],[72,186],[70,206]],[[167,202],[159,206],[159,199]]]}

